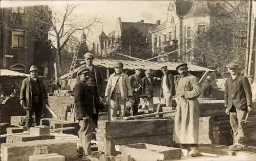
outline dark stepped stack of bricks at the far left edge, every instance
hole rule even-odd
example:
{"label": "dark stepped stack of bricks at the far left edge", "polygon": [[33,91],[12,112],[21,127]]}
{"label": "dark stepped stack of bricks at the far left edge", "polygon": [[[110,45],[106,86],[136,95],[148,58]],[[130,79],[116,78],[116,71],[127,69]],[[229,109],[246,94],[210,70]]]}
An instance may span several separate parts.
{"label": "dark stepped stack of bricks at the far left edge", "polygon": [[1,117],[0,122],[10,122],[11,116],[24,116],[26,111],[19,104],[19,97],[10,97],[5,104],[0,104]]}

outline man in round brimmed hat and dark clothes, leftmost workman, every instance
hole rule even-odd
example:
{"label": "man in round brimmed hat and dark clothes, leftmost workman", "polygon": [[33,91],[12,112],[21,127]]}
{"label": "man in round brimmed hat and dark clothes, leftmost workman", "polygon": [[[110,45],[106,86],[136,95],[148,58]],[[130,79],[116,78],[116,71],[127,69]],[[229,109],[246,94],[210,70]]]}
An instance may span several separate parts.
{"label": "man in round brimmed hat and dark clothes, leftmost workman", "polygon": [[38,69],[32,65],[29,70],[30,77],[25,78],[20,89],[20,104],[26,110],[26,127],[33,125],[32,115],[35,114],[35,125],[40,124],[42,110],[46,109],[48,96],[45,85],[38,77]]}

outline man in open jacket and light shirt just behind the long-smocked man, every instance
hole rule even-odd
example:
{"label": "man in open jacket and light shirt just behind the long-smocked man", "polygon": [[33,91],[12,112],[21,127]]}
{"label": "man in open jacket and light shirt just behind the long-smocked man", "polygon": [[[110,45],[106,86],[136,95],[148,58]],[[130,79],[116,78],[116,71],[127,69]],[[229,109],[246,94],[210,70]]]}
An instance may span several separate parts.
{"label": "man in open jacket and light shirt just behind the long-smocked man", "polygon": [[163,72],[160,97],[163,104],[166,104],[167,107],[172,107],[173,96],[175,96],[174,76],[169,73],[167,66],[163,66],[160,69]]}

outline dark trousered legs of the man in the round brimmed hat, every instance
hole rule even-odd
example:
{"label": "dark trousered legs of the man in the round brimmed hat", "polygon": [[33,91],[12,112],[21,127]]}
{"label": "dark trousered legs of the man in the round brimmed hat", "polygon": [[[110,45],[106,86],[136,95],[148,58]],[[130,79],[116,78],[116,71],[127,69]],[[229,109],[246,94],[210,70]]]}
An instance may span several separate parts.
{"label": "dark trousered legs of the man in the round brimmed hat", "polygon": [[26,109],[26,127],[31,127],[33,124],[33,114],[35,114],[35,125],[40,125],[42,114],[42,103],[33,103],[31,110]]}

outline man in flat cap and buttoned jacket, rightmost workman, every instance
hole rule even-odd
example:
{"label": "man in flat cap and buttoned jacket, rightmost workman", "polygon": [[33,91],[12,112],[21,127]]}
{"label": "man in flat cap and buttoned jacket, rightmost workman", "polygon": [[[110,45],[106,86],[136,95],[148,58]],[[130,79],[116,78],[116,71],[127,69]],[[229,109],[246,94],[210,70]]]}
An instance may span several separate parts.
{"label": "man in flat cap and buttoned jacket, rightmost workman", "polygon": [[229,115],[230,125],[233,130],[234,143],[230,150],[244,150],[245,133],[242,120],[247,112],[252,110],[252,93],[248,78],[239,74],[239,65],[230,63],[227,66],[230,77],[225,82],[225,111]]}

